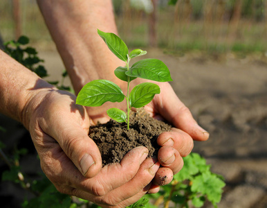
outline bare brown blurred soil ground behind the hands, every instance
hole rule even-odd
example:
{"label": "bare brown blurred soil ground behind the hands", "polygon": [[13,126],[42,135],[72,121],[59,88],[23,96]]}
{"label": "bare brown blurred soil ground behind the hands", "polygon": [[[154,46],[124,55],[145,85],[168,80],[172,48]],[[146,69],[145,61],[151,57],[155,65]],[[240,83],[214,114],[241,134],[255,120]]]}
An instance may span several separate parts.
{"label": "bare brown blurred soil ground behind the hands", "polygon": [[[267,207],[267,57],[266,55],[168,55],[147,49],[171,71],[171,85],[210,139],[193,152],[225,177],[219,207]],[[50,76],[64,66],[55,51],[42,51]],[[215,59],[216,58],[216,59]],[[66,80],[66,85],[70,82]]]}

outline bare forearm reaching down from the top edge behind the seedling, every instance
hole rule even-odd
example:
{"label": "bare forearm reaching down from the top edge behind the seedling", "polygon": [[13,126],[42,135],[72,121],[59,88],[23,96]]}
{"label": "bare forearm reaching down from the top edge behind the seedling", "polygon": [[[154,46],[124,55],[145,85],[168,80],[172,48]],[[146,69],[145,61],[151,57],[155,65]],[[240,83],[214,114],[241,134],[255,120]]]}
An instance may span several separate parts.
{"label": "bare forearm reaching down from the top edge behind the seedling", "polygon": [[97,33],[117,33],[110,0],[37,1],[75,92],[89,81],[109,79],[122,85],[113,70],[124,64]]}

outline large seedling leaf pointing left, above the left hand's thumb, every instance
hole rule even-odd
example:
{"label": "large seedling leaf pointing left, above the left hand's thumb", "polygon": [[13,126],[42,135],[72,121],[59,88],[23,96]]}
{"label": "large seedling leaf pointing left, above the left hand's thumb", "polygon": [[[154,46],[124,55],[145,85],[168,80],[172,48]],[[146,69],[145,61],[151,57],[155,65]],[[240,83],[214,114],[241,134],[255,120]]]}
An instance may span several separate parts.
{"label": "large seedling leaf pointing left, above the left hand's thumb", "polygon": [[100,106],[107,101],[122,102],[125,95],[118,85],[109,80],[93,80],[82,87],[76,104],[85,106]]}

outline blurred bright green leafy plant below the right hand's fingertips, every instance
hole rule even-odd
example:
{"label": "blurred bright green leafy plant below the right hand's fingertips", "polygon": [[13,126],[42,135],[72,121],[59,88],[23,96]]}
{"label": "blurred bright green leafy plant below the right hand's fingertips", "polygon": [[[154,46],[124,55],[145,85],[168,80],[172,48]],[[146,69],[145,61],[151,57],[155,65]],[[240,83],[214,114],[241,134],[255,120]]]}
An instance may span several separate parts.
{"label": "blurred bright green leafy plant below the right hand's fingertips", "polygon": [[154,203],[147,207],[189,207],[189,202],[194,207],[203,207],[205,201],[217,207],[223,193],[223,177],[210,171],[210,165],[197,153],[191,153],[183,158],[182,170],[174,175],[171,184],[162,187],[160,192],[145,196]]}

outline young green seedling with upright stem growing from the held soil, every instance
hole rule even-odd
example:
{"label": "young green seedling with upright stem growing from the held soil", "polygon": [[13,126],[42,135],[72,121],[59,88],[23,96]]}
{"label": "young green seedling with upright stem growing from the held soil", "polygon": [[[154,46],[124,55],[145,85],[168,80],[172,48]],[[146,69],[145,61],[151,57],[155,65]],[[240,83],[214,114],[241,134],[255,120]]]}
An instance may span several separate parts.
{"label": "young green seedling with upright stem growing from the held soil", "polygon": [[168,82],[172,81],[172,78],[167,66],[162,61],[154,58],[139,60],[130,67],[129,62],[132,58],[145,55],[147,51],[134,49],[129,53],[127,45],[117,35],[104,33],[100,30],[98,30],[98,35],[102,37],[109,49],[120,60],[125,61],[125,67],[118,67],[114,73],[117,78],[127,82],[127,93],[126,95],[123,94],[122,89],[109,80],[93,80],[81,89],[76,103],[95,107],[107,101],[115,103],[122,102],[126,99],[127,114],[115,107],[107,110],[107,114],[115,121],[127,122],[127,128],[129,129],[129,112],[131,107],[143,107],[152,101],[155,94],[160,93],[160,87],[154,83],[141,83],[133,87],[131,92],[129,92],[131,81],[136,78],[144,78],[158,82]]}

